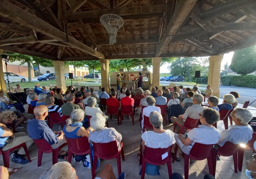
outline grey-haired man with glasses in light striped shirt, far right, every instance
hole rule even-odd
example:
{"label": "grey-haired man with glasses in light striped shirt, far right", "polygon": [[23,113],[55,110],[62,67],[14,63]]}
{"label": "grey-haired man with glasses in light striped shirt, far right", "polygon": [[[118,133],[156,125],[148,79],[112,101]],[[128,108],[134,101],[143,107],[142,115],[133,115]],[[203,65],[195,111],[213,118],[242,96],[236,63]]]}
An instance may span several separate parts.
{"label": "grey-haired man with glasses in light striped shirt, far right", "polygon": [[252,113],[246,108],[236,107],[231,116],[235,125],[221,132],[221,139],[214,148],[222,147],[227,141],[233,144],[247,144],[252,139],[253,129],[247,124],[253,118]]}

